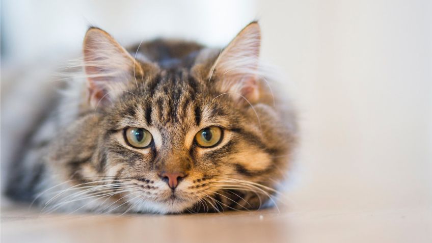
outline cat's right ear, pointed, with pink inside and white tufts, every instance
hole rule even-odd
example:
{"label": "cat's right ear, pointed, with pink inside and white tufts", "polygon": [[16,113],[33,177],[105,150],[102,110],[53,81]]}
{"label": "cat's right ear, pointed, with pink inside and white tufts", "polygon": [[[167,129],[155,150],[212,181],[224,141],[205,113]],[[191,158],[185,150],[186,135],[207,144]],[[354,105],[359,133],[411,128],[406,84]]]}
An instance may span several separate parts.
{"label": "cat's right ear, pointed, with pink inside and white tufts", "polygon": [[256,74],[260,45],[259,24],[252,22],[221,52],[209,75],[210,78],[211,75],[217,76],[217,85],[222,93],[229,93],[238,102],[245,99],[251,103],[258,101],[260,94]]}

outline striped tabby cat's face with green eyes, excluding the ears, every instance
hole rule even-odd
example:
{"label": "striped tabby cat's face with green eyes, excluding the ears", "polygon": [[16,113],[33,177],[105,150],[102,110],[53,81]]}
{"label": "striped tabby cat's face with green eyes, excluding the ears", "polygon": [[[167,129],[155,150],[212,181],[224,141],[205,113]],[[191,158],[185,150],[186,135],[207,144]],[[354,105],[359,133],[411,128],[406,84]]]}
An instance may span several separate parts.
{"label": "striped tabby cat's face with green eyes, excluding the ears", "polygon": [[[238,107],[187,71],[161,71],[154,79],[154,87],[126,92],[107,109],[100,149],[104,171],[116,172],[110,176],[137,178],[142,197],[171,212],[233,182],[228,179],[255,181],[275,169],[276,151],[250,107]],[[258,117],[273,119],[265,109],[257,108]]]}

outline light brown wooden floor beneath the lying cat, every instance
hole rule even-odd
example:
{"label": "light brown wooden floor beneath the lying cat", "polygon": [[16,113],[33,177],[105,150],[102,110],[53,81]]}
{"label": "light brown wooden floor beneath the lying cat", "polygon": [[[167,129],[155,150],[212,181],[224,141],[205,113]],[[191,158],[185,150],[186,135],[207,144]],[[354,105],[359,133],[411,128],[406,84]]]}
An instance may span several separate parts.
{"label": "light brown wooden floor beneath the lying cat", "polygon": [[[25,209],[23,209],[25,210]],[[431,242],[430,208],[186,215],[3,212],[2,242]]]}

